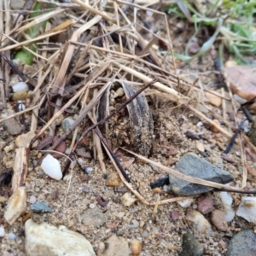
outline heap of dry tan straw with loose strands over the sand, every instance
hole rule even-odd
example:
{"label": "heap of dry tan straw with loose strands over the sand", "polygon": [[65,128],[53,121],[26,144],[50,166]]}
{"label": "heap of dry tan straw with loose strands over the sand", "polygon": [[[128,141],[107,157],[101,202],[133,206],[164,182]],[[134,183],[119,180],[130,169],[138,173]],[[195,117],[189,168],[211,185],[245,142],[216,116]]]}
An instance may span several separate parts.
{"label": "heap of dry tan straw with loose strands over the sand", "polygon": [[[54,115],[49,116],[48,122],[38,131],[32,143],[50,128],[52,132],[55,133],[55,120],[58,119],[67,108],[72,106],[73,103],[80,102],[80,99],[83,99],[83,108],[80,110],[79,117],[70,130],[61,136],[60,140],[65,139],[67,134],[75,129],[76,134],[79,130],[79,125],[86,115],[90,115],[90,118],[96,121],[95,111],[92,114],[90,114],[90,111],[100,101],[102,93],[108,86],[113,84],[113,81],[125,80],[125,83],[131,84],[131,86],[136,85],[136,87],[139,88],[142,84],[148,83],[154,78],[158,79],[158,82],[154,83],[152,88],[146,90],[146,94],[165,97],[170,102],[175,102],[177,108],[179,106],[185,106],[190,111],[200,116],[201,119],[205,119],[208,123],[214,125],[218,131],[222,132],[226,137],[232,137],[230,131],[226,131],[222,126],[212,122],[211,119],[208,119],[206,115],[199,112],[193,105],[194,102],[200,102],[201,100],[198,96],[199,89],[196,88],[196,84],[191,84],[187,79],[183,78],[183,76],[177,75],[172,49],[172,39],[166,14],[160,13],[154,9],[148,9],[148,4],[153,4],[155,1],[147,1],[147,3],[109,1],[107,3],[109,13],[102,10],[103,6],[93,6],[90,5],[89,2],[84,3],[80,0],[72,0],[73,3],[71,4],[56,3],[47,0],[40,1],[51,3],[56,6],[56,9],[51,10],[47,15],[41,15],[36,19],[29,20],[29,22],[20,23],[20,25],[16,26],[13,30],[10,29],[9,25],[4,30],[3,22],[0,21],[0,32],[5,35],[2,39],[0,52],[6,53],[9,50],[25,48],[26,46],[44,40],[44,44],[38,44],[38,51],[33,53],[39,64],[38,69],[41,68],[38,75],[38,83],[32,91],[32,96],[34,97],[33,104],[35,104],[35,106],[27,108],[20,113],[34,110],[32,129],[36,130],[37,121],[35,119],[38,116],[38,109],[43,108],[43,106],[45,108],[51,108],[50,105],[47,104],[47,99],[52,101],[55,105],[60,105],[60,108],[55,108],[52,112]],[[7,0],[5,0],[4,3],[6,4]],[[0,0],[0,10],[1,8],[3,10],[3,6],[3,1]],[[146,41],[141,36],[137,27],[139,27],[140,30],[148,32],[148,34],[150,32],[144,28],[143,25],[137,24],[138,21],[135,18],[133,18],[133,20],[129,19],[129,10],[128,8],[124,8],[127,6],[133,9],[133,14],[137,14],[138,10],[141,12],[149,10],[153,12],[154,15],[161,15],[164,18],[166,38],[168,40],[167,46],[169,48],[167,53],[171,54],[159,55],[155,51],[155,49],[157,49],[157,45],[155,44],[158,39],[160,39],[158,35],[152,33],[149,41]],[[4,8],[6,7],[4,6]],[[79,12],[82,12],[82,15],[80,15]],[[63,15],[64,13],[66,16]],[[5,19],[9,19],[9,12],[3,13],[3,11],[0,11],[0,20],[4,20],[3,15],[7,15]],[[17,42],[13,39],[19,33],[22,34],[27,28],[37,24],[39,21],[56,16],[60,16],[59,19],[58,17],[55,19],[55,21],[58,21],[58,24],[55,24],[48,32],[39,34],[36,38],[26,38],[23,42]],[[67,32],[67,30],[72,32],[72,36],[71,38],[66,38],[65,44],[55,44],[54,46],[48,44],[49,38],[61,35]],[[6,45],[6,38],[9,38],[8,42],[10,44],[8,45]],[[166,38],[162,39],[166,41]],[[56,49],[57,46],[59,47],[58,49]],[[1,72],[0,69],[0,75],[3,75]],[[119,78],[116,77],[117,73],[119,73]],[[76,84],[70,86],[71,82]],[[7,83],[6,86],[9,86],[9,83]],[[3,83],[0,82],[1,98],[3,102],[4,90]],[[94,96],[92,96],[93,93]],[[87,102],[89,98],[90,102]],[[3,122],[3,120],[5,119],[1,119],[0,122]],[[74,140],[75,137],[73,137],[73,143]],[[101,160],[102,169],[104,169],[105,166],[101,153],[102,149],[96,137],[95,145],[99,159]],[[111,156],[109,157],[112,160]],[[115,165],[115,162],[113,160],[112,162],[117,172],[119,172],[122,181],[131,189],[134,195],[144,204],[154,206],[154,203],[146,201],[143,196],[132,187],[131,183],[125,181],[125,178]],[[161,166],[158,163],[154,164],[160,166],[165,172],[177,175],[171,168]],[[246,179],[245,177],[246,173],[243,178],[243,184]],[[185,178],[193,183],[202,183],[200,179],[191,179],[191,177]],[[226,186],[217,183],[204,181],[204,184],[216,188],[226,188]],[[239,191],[239,189],[237,189],[237,191]],[[159,201],[158,203],[164,204],[183,199],[183,197],[178,197]]]}

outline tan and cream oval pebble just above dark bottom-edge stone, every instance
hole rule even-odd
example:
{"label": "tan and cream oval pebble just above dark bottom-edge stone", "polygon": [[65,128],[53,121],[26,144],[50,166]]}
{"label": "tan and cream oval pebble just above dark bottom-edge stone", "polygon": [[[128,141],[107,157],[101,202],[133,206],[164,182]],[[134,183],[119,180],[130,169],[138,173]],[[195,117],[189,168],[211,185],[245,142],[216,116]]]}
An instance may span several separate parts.
{"label": "tan and cream oval pebble just above dark bottom-edge stone", "polygon": [[210,234],[212,232],[211,224],[209,224],[207,219],[200,212],[192,208],[188,209],[185,219],[190,227],[200,233]]}

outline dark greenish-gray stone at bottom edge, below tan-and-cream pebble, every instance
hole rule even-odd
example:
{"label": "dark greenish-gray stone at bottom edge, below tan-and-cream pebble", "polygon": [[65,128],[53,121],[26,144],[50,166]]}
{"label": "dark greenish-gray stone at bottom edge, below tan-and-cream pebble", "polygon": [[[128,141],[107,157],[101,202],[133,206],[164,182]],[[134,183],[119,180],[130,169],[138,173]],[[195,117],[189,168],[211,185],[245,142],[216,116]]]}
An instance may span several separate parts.
{"label": "dark greenish-gray stone at bottom edge, below tan-and-cream pebble", "polygon": [[191,233],[183,235],[183,251],[179,256],[201,256],[204,253],[204,248],[199,241],[195,239]]}

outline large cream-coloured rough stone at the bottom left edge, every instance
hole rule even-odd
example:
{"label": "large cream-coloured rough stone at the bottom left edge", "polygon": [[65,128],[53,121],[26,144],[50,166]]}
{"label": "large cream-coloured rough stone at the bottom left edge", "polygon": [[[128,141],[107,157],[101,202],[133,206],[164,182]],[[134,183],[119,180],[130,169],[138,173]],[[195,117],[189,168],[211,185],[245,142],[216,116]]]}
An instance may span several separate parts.
{"label": "large cream-coloured rough stone at the bottom left edge", "polygon": [[25,224],[25,234],[27,256],[96,256],[90,241],[63,225],[57,228],[47,223],[37,224],[30,218]]}

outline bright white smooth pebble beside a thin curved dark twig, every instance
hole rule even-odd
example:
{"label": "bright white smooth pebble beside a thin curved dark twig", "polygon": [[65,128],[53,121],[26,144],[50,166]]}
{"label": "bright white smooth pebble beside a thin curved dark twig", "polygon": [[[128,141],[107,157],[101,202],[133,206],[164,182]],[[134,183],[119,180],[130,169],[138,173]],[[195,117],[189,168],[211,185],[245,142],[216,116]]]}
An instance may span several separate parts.
{"label": "bright white smooth pebble beside a thin curved dark twig", "polygon": [[62,178],[61,165],[52,155],[47,154],[42,161],[41,168],[49,176],[56,180]]}

